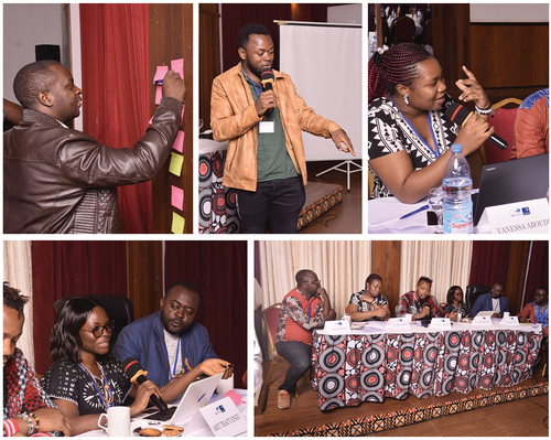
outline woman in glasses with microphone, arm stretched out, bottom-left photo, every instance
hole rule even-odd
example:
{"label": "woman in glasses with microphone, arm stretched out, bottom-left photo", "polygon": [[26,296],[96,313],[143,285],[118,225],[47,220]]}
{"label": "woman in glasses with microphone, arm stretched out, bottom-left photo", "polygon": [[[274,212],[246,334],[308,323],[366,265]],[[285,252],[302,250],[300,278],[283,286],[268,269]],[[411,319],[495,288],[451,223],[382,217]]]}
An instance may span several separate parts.
{"label": "woman in glasses with microphone, arm stretched out, bottom-left photo", "polygon": [[86,297],[68,300],[55,320],[50,345],[54,363],[41,383],[71,419],[74,436],[97,429],[99,415],[125,405],[129,396],[134,399],[129,405],[133,417],[147,408],[151,395],[171,401],[198,376],[224,372],[224,361],[208,359],[161,389],[151,380],[132,386],[109,351],[114,326],[105,309]]}

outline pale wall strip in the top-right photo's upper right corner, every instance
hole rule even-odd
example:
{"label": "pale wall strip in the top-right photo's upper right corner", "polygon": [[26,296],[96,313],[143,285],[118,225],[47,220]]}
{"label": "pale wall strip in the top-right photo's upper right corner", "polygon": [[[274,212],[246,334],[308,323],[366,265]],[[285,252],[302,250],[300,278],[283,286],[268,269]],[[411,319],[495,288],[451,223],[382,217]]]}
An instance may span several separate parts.
{"label": "pale wall strip in the top-right photo's upper right corner", "polygon": [[471,3],[472,23],[548,23],[548,3]]}

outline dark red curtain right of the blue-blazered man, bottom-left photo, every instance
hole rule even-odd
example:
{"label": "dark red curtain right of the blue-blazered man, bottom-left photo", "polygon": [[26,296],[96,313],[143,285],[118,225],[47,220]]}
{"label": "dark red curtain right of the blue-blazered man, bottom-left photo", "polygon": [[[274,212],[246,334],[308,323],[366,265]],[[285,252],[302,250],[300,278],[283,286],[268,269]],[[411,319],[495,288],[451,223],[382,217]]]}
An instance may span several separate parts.
{"label": "dark red curtain right of the blue-blazered man, bottom-left photo", "polygon": [[[166,242],[166,287],[197,286],[196,321],[208,330],[214,351],[231,362],[235,385],[247,369],[247,242]],[[250,376],[251,377],[251,376]]]}

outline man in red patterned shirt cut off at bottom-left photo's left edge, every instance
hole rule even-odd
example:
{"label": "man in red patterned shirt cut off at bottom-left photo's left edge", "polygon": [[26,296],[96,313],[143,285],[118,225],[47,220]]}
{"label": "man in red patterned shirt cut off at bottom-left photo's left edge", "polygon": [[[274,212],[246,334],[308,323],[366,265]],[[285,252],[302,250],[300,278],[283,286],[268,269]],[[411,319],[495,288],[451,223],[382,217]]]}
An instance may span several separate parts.
{"label": "man in red patterned shirt cut off at bottom-left photo's left edge", "polygon": [[3,283],[3,436],[48,436],[63,431],[71,436],[71,422],[42,389],[34,369],[15,347],[29,301]]}

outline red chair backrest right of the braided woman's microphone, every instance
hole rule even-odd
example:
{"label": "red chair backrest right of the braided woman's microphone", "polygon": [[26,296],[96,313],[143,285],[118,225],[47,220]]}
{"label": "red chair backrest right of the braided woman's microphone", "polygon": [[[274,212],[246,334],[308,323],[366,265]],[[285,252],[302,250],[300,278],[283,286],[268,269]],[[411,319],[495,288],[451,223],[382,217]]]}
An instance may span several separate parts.
{"label": "red chair backrest right of the braided woman's microphone", "polygon": [[[516,106],[514,108],[503,108],[508,104],[514,104]],[[488,118],[488,124],[496,128],[496,135],[504,139],[508,146],[507,149],[501,150],[489,141],[484,142],[484,149],[480,152],[483,165],[505,162],[510,158],[515,143],[515,120],[517,119],[518,106],[520,104],[522,104],[520,99],[507,98],[491,106],[495,116]]]}

